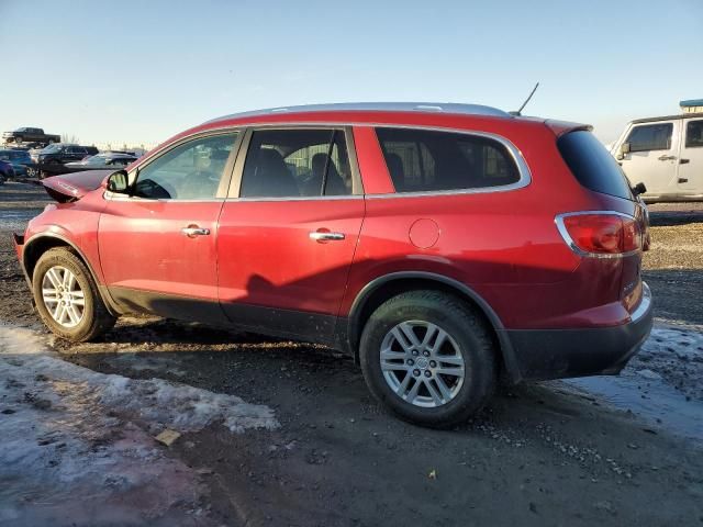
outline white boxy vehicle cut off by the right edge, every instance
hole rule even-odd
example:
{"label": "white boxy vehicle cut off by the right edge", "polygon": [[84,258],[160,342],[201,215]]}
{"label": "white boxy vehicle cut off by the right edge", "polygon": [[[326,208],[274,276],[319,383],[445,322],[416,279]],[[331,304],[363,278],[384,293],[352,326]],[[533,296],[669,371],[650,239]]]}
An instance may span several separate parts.
{"label": "white boxy vehicle cut off by the right edge", "polygon": [[703,112],[633,121],[611,154],[644,201],[703,200]]}

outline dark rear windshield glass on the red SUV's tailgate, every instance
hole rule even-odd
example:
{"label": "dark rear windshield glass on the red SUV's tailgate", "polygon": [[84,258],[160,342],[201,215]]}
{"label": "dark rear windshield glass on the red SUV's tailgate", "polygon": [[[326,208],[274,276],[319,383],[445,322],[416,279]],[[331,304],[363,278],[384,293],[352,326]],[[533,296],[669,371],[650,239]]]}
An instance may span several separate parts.
{"label": "dark rear windshield glass on the red SUV's tailgate", "polygon": [[625,172],[593,134],[587,131],[569,132],[557,141],[557,146],[583,187],[603,194],[633,199]]}

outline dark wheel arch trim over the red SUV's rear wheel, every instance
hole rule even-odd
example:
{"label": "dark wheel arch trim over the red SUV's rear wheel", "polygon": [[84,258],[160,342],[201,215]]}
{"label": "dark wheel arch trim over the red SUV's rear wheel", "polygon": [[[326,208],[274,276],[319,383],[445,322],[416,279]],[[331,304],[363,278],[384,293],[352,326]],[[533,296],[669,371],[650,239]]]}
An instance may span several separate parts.
{"label": "dark wheel arch trim over the red SUV's rear wheel", "polygon": [[513,348],[500,317],[490,304],[473,289],[444,274],[427,271],[401,271],[384,274],[369,282],[356,296],[349,310],[346,340],[355,361],[358,362],[359,340],[366,321],[388,299],[410,290],[429,289],[453,294],[472,305],[484,318],[495,345],[500,367],[512,382],[520,381],[520,371]]}

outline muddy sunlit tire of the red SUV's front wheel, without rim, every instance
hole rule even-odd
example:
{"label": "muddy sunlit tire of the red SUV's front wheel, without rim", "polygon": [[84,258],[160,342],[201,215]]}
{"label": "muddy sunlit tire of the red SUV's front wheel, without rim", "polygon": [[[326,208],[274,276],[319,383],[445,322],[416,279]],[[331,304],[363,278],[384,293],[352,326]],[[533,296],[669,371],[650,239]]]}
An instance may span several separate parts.
{"label": "muddy sunlit tire of the red SUV's front wheel, without rim", "polygon": [[[42,294],[44,277],[55,266],[66,268],[72,272],[85,296],[82,317],[76,326],[70,328],[64,327],[53,318]],[[32,294],[34,295],[36,311],[44,324],[52,333],[66,340],[74,343],[92,340],[109,330],[116,321],[105,307],[90,270],[80,258],[66,247],[55,247],[40,257],[34,267]]]}

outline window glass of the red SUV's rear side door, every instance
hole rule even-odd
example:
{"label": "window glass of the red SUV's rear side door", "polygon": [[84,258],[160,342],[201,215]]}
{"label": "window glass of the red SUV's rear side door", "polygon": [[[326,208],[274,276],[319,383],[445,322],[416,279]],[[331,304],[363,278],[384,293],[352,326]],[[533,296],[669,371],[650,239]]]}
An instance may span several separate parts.
{"label": "window glass of the red SUV's rear side door", "polygon": [[242,175],[242,198],[314,198],[352,193],[342,130],[261,130]]}

